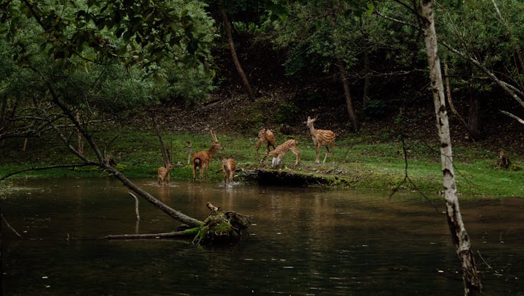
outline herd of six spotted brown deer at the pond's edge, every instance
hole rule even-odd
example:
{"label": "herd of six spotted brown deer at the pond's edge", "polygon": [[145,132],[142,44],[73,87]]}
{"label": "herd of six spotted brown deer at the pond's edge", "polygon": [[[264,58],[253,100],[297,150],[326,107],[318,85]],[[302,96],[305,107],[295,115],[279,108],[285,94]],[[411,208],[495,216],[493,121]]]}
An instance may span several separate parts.
{"label": "herd of six spotted brown deer at the pond's edge", "polygon": [[[326,163],[326,159],[328,157],[328,154],[330,153],[330,149],[333,157],[335,157],[335,133],[328,129],[315,129],[313,122],[315,122],[316,119],[316,117],[310,118],[310,116],[308,116],[307,121],[305,121],[304,123],[307,126],[307,128],[310,129],[311,138],[316,149],[315,163],[320,163],[319,153],[322,147],[326,148],[326,155],[324,155],[322,163]],[[198,151],[197,153],[194,153],[193,157],[191,157],[191,167],[193,168],[193,181],[196,181],[197,170],[200,170],[201,180],[203,180],[204,178],[204,172],[205,175],[209,178],[208,171],[211,158],[217,150],[224,149],[224,147],[220,145],[217,136],[214,134],[212,129],[210,129],[209,127],[206,129],[209,130],[212,136],[212,145],[209,148],[209,150]],[[271,129],[262,128],[259,131],[258,141],[256,142],[257,157],[259,157],[259,148],[262,144],[265,146],[265,155],[263,156],[263,158],[261,158],[260,164],[262,164],[264,160],[266,160],[268,157],[271,157],[272,161],[270,167],[272,169],[276,169],[277,167],[280,167],[282,165],[282,159],[284,158],[284,155],[286,155],[286,153],[288,153],[289,151],[291,151],[291,153],[293,153],[296,157],[295,165],[298,165],[300,163],[300,150],[296,148],[296,146],[298,145],[298,141],[296,139],[289,139],[287,141],[284,141],[284,143],[281,143],[275,148],[275,134],[273,134]],[[272,147],[272,150],[270,150],[270,147]],[[220,157],[219,159],[222,164],[221,171],[224,174],[224,184],[232,185],[236,169],[235,159],[231,157]],[[166,162],[164,167],[159,167],[159,185],[169,185],[170,171],[173,171],[173,164],[171,162]]]}

